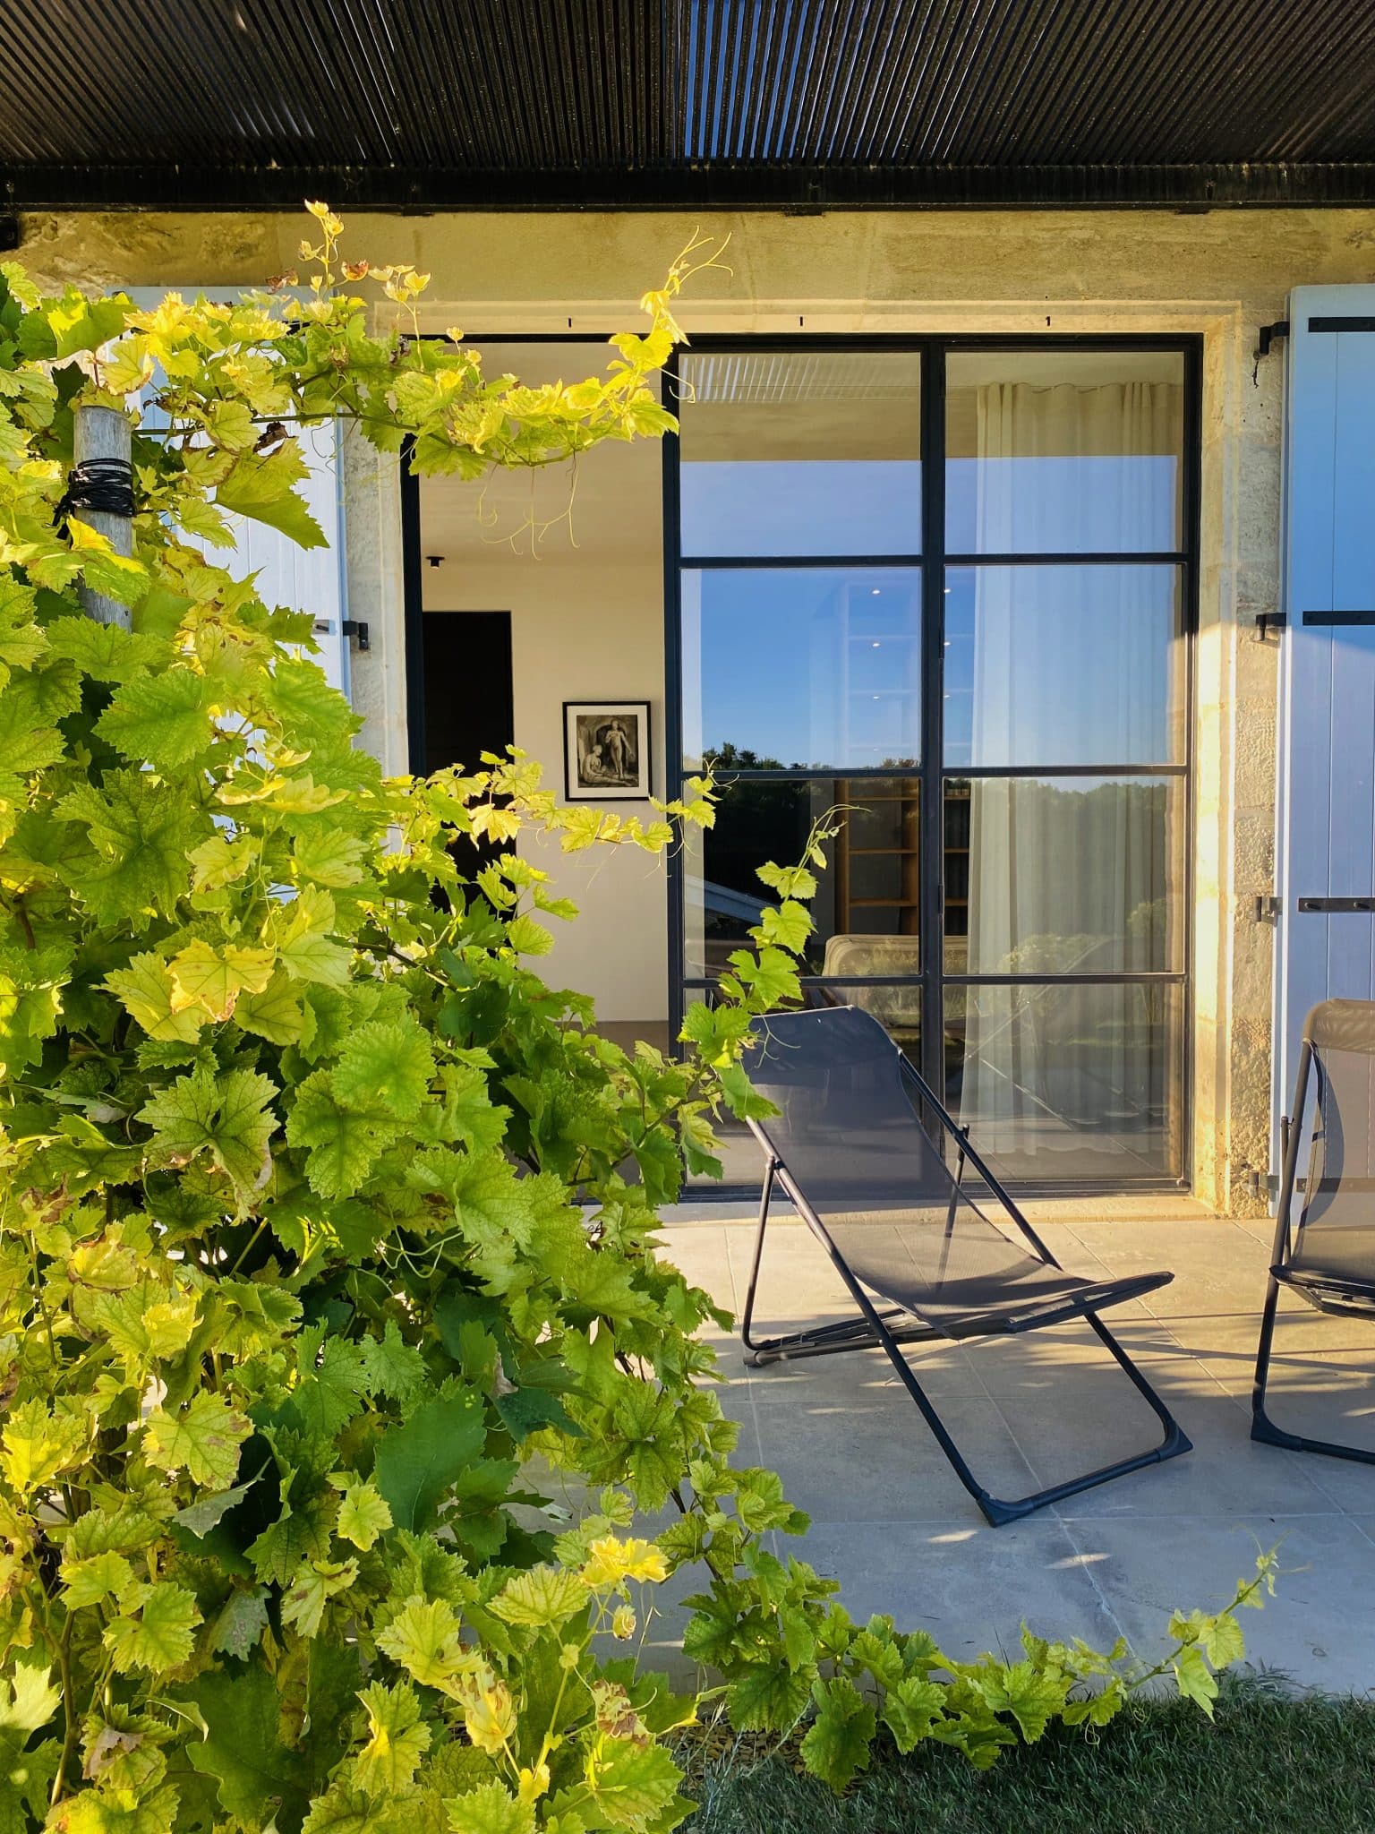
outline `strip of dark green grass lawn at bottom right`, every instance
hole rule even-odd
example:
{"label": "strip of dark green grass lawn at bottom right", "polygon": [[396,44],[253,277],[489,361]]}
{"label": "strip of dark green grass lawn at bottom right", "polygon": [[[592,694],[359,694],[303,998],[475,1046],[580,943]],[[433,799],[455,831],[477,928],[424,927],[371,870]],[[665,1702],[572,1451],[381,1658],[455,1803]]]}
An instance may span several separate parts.
{"label": "strip of dark green grass lawn at bottom right", "polygon": [[1054,1728],[988,1772],[889,1746],[840,1799],[777,1755],[719,1759],[691,1794],[684,1834],[1375,1834],[1375,1700],[1238,1680],[1212,1724],[1131,1706],[1094,1740]]}

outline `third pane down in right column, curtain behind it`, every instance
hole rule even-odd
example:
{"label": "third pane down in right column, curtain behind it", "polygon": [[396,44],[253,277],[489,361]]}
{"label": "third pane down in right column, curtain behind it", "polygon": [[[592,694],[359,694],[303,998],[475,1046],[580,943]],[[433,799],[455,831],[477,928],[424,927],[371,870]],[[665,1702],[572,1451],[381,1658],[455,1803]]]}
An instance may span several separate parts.
{"label": "third pane down in right column, curtain behind it", "polygon": [[946,974],[1182,970],[1181,778],[946,783]]}

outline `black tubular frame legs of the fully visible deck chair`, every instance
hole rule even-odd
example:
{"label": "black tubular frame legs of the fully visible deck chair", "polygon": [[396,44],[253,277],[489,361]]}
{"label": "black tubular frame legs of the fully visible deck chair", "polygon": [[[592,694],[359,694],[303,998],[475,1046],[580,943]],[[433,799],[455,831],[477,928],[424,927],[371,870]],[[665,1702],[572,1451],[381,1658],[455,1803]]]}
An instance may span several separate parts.
{"label": "black tubular frame legs of the fully visible deck chair", "polygon": [[[860,1309],[862,1324],[827,1324],[818,1326],[810,1331],[794,1331],[786,1337],[770,1337],[763,1342],[755,1342],[750,1335],[750,1326],[754,1322],[754,1304],[759,1289],[759,1264],[764,1253],[764,1231],[768,1229],[768,1207],[774,1194],[774,1183],[779,1183],[788,1194],[798,1209],[798,1214],[807,1221],[812,1234],[818,1238],[821,1247],[836,1269],[840,1278],[845,1282],[845,1289]],[[1094,1331],[1100,1342],[1111,1352],[1116,1364],[1131,1379],[1137,1392],[1146,1399],[1155,1418],[1160,1421],[1162,1438],[1148,1453],[1137,1453],[1129,1458],[1122,1458],[1111,1465],[1100,1465],[1094,1471],[1084,1473],[1084,1476],[1067,1478],[1063,1484],[1049,1484],[1045,1489],[1030,1491],[1025,1497],[994,1497],[974,1475],[959,1445],[955,1445],[950,1431],[946,1429],[940,1414],[931,1403],[930,1396],[917,1381],[911,1364],[902,1355],[902,1344],[908,1342],[930,1342],[944,1337],[942,1331],[931,1326],[915,1326],[911,1330],[891,1330],[887,1320],[895,1315],[906,1315],[900,1308],[880,1311],[869,1298],[865,1289],[854,1278],[851,1269],[845,1265],[842,1256],[830,1243],[825,1229],[814,1220],[810,1205],[803,1199],[801,1192],[792,1185],[786,1170],[777,1159],[770,1159],[764,1172],[764,1188],[759,1199],[759,1227],[754,1243],[754,1260],[750,1265],[750,1286],[744,1295],[744,1311],[741,1315],[741,1339],[744,1342],[744,1361],[748,1366],[757,1368],[764,1363],[776,1363],[792,1357],[807,1355],[838,1355],[843,1350],[884,1350],[893,1363],[893,1368],[908,1390],[911,1399],[917,1403],[926,1425],[931,1429],[937,1445],[950,1460],[950,1467],[961,1480],[964,1489],[974,1497],[979,1509],[984,1513],[994,1528],[1003,1528],[1006,1522],[1019,1522],[1023,1517],[1032,1515],[1036,1509],[1043,1509],[1047,1504],[1063,1502],[1067,1497],[1078,1497],[1080,1491],[1093,1489],[1096,1484],[1107,1484],[1111,1478],[1128,1476],[1131,1471],[1144,1471],[1148,1465],[1164,1464],[1166,1458],[1179,1458],[1182,1453],[1192,1451],[1192,1442],[1181,1429],[1179,1421],[1173,1418],[1170,1409],[1164,1405],[1160,1396],[1151,1388],[1140,1370],[1135,1366],[1126,1350],[1118,1344],[1107,1326],[1102,1322],[1098,1313],[1082,1313],[1084,1322]]]}

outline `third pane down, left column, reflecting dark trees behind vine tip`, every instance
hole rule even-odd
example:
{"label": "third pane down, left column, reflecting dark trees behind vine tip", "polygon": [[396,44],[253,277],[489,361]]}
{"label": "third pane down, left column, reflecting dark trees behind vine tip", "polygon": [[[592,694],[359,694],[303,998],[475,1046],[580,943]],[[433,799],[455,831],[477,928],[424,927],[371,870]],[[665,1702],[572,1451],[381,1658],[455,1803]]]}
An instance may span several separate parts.
{"label": "third pane down, left column, reflecting dark trees behind vine tip", "polygon": [[[917,778],[821,778],[777,783],[735,778],[722,787],[715,827],[686,840],[689,979],[713,978],[776,902],[757,869],[801,858],[812,823],[843,809],[827,842],[827,871],[812,900],[816,934],[805,972],[842,978],[918,974],[920,783]],[[917,990],[904,1001],[917,1011]],[[904,1007],[906,1011],[906,1007]],[[913,1022],[915,1023],[915,1018]]]}

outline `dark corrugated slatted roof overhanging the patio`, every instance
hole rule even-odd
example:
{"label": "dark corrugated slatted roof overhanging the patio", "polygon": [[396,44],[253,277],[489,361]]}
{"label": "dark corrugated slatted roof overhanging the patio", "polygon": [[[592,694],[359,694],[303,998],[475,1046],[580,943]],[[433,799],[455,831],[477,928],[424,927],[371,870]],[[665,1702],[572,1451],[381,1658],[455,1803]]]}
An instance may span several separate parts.
{"label": "dark corrugated slatted roof overhanging the patio", "polygon": [[0,202],[1375,202],[1371,0],[4,0]]}

